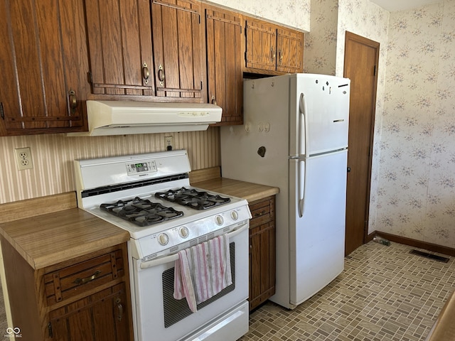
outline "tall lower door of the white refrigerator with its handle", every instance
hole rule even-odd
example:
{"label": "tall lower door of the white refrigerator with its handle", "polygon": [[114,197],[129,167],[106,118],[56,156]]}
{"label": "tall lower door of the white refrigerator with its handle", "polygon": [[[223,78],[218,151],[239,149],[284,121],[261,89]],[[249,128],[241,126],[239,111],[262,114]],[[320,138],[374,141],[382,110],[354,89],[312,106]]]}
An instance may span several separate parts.
{"label": "tall lower door of the white refrigerator with its handle", "polygon": [[344,269],[347,154],[343,150],[289,160],[292,305],[309,299]]}

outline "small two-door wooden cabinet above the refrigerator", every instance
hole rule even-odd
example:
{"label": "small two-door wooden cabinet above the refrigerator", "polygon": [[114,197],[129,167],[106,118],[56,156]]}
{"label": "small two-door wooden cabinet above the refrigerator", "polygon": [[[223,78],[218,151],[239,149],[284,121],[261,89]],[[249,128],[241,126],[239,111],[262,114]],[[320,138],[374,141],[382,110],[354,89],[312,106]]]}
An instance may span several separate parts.
{"label": "small two-door wooden cabinet above the refrigerator", "polygon": [[246,72],[303,72],[304,33],[253,18],[247,18],[245,31]]}

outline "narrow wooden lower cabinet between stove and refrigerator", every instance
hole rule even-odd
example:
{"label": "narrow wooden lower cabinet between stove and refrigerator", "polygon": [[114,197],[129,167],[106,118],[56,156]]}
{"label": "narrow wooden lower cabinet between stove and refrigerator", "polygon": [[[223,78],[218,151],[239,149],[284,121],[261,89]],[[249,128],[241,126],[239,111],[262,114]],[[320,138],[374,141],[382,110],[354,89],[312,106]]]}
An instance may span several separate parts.
{"label": "narrow wooden lower cabinet between stove and refrigerator", "polygon": [[250,310],[275,293],[275,197],[250,202]]}

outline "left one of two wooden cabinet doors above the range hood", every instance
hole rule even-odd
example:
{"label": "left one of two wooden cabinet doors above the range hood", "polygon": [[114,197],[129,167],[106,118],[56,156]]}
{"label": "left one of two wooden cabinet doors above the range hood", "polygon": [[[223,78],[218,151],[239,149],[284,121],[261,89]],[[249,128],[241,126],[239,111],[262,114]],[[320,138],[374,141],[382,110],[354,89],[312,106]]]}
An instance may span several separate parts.
{"label": "left one of two wooden cabinet doors above the range hood", "polygon": [[149,1],[85,2],[92,92],[154,95]]}

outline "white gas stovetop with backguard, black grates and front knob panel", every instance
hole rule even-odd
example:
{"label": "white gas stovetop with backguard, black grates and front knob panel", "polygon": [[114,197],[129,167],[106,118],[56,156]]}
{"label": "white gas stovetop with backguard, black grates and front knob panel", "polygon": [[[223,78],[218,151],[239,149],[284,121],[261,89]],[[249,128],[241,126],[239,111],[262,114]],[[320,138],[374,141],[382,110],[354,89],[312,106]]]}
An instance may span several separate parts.
{"label": "white gas stovetop with backguard, black grates and front knob panel", "polygon": [[191,187],[189,171],[186,151],[75,161],[77,205],[126,229],[137,259],[175,252],[251,218],[246,200]]}

